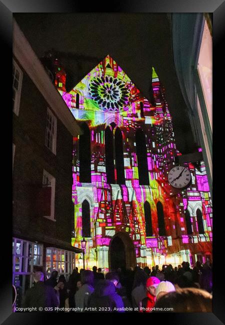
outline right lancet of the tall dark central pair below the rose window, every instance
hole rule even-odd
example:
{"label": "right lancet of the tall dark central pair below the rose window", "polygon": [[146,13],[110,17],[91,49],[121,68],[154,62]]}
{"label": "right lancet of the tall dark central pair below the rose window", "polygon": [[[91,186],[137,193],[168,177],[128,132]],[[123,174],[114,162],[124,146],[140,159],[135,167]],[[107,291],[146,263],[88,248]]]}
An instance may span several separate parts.
{"label": "right lancet of the tall dark central pair below the rose window", "polygon": [[122,133],[119,127],[115,130],[115,166],[116,183],[125,184]]}

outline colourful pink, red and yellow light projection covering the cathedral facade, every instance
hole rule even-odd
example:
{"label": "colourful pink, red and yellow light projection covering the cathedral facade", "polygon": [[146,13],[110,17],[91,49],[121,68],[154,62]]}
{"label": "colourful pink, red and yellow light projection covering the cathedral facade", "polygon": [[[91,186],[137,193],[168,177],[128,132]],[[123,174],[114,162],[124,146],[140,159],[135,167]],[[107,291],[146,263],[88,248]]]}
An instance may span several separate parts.
{"label": "colourful pink, red and yellow light projection covering the cathedral facade", "polygon": [[[65,77],[60,75],[60,81],[65,82]],[[192,164],[186,165],[192,174],[192,184],[186,190],[180,192],[167,182],[167,171],[175,164],[174,156],[180,153],[175,146],[164,88],[154,68],[154,104],[143,97],[109,55],[69,93],[65,92],[65,84],[60,84],[58,91],[80,125],[85,122],[89,128],[91,183],[79,182],[79,137],[74,138],[73,151],[75,235],[72,245],[80,247],[83,237],[82,214],[87,213],[82,211],[82,202],[86,200],[89,203],[90,237],[85,237],[85,267],[91,269],[97,265],[108,271],[111,242],[118,234],[126,243],[127,236],[132,240],[127,251],[133,250],[135,259],[126,266],[163,263],[175,266],[182,260],[196,260],[199,252],[202,256],[211,254],[212,211],[204,163],[201,162],[198,168]],[[146,156],[143,157],[137,153],[137,145],[140,144],[136,136],[139,129],[146,142]],[[111,147],[107,151],[108,143]],[[120,144],[123,162],[119,160]],[[112,165],[110,172],[114,183],[111,184],[107,182],[109,165],[106,159]],[[139,165],[141,159],[146,159],[149,179],[145,185],[139,183],[141,170],[138,169],[138,159]],[[117,174],[121,172],[121,166],[124,177]],[[118,184],[119,179],[122,183]],[[144,215],[145,201],[150,204],[151,211],[150,237],[146,237],[145,232],[145,218],[149,217]],[[163,206],[162,216],[157,214],[157,202]],[[204,234],[197,231],[198,208],[202,212]],[[192,227],[192,234],[188,236],[184,217],[186,209],[190,213]],[[163,218],[163,223],[160,218]],[[162,225],[165,236],[159,236]],[[77,259],[76,265],[82,267],[82,260]]]}

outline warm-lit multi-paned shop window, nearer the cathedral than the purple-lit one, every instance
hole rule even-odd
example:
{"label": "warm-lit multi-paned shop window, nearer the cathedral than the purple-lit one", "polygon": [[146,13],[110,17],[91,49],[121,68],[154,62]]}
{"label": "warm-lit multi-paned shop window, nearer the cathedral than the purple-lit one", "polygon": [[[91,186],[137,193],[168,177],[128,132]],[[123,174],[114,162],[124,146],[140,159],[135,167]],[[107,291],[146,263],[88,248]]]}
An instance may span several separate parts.
{"label": "warm-lit multi-paned shop window, nearer the cathedral than the purple-lit one", "polygon": [[69,275],[74,268],[75,252],[54,247],[46,248],[46,274],[48,278],[53,269],[56,269],[58,275],[64,275],[68,281]]}

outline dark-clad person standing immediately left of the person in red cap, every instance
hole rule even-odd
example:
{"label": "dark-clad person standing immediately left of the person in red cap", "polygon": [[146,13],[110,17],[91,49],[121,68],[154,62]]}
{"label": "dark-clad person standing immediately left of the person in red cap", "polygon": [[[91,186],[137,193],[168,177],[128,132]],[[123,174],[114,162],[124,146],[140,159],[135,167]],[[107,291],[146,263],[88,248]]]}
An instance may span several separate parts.
{"label": "dark-clad person standing immediately left of the person in red cap", "polygon": [[146,297],[146,281],[147,281],[147,279],[149,279],[147,277],[147,274],[141,269],[138,269],[134,273],[133,289],[131,292],[131,300],[132,300],[133,308],[137,308],[139,305],[139,302],[144,297]]}

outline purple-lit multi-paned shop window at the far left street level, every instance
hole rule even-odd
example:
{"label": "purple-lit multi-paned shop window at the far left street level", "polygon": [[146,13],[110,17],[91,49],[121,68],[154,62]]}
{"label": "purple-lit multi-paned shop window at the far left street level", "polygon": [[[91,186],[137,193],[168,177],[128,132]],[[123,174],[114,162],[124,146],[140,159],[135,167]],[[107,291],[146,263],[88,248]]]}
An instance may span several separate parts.
{"label": "purple-lit multi-paned shop window at the far left street level", "polygon": [[43,245],[12,238],[12,283],[17,297],[16,307],[21,306],[24,292],[32,286],[33,271],[42,266]]}

